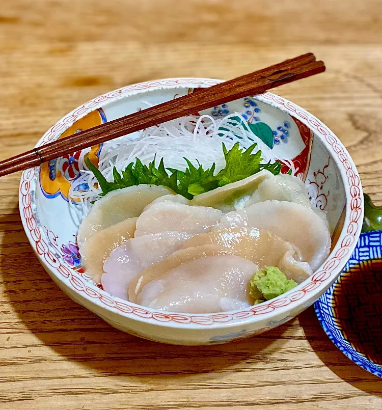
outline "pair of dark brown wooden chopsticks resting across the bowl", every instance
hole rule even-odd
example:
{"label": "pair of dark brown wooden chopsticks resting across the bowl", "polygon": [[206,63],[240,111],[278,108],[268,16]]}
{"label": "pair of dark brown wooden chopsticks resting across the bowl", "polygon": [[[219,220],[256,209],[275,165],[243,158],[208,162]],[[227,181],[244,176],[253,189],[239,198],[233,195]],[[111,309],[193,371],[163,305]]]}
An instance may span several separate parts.
{"label": "pair of dark brown wooden chopsticks resting across the bowl", "polygon": [[271,88],[310,77],[323,71],[325,71],[325,66],[322,61],[316,61],[312,53],[304,54],[303,56],[286,60],[283,63],[225,81],[225,83],[199,89],[197,93],[188,94],[155,105],[138,113],[69,135],[61,140],[53,141],[1,161],[0,176],[36,167],[51,159],[59,158],[63,155],[113,140],[119,136],[158,125],[162,122],[191,115],[215,105],[221,105],[249,95],[261,94]]}

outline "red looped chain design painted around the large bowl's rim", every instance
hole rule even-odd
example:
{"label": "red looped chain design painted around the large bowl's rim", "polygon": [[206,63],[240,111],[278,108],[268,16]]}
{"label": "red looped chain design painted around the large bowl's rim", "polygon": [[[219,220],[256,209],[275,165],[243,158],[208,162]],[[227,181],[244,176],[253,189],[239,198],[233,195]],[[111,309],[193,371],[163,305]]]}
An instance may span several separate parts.
{"label": "red looped chain design painted around the large bowl's rim", "polygon": [[[181,86],[185,84],[195,84],[196,86],[212,86],[217,84],[218,81],[208,79],[167,79],[149,81],[147,83],[141,83],[125,87],[120,90],[113,91],[111,93],[99,96],[84,105],[78,107],[74,112],[64,117],[56,125],[54,125],[42,138],[40,145],[47,144],[54,139],[57,134],[61,134],[64,129],[73,124],[80,116],[83,116],[91,108],[95,108],[99,103],[106,101],[110,98],[118,97],[121,94],[148,90],[160,86]],[[302,299],[308,293],[317,289],[322,283],[328,281],[332,275],[335,274],[335,270],[346,262],[346,256],[350,256],[353,247],[355,246],[356,236],[361,230],[360,218],[362,216],[362,188],[360,178],[352,161],[348,159],[348,154],[345,152],[344,147],[337,137],[322,123],[320,123],[315,117],[311,116],[307,112],[303,111],[300,107],[292,104],[290,101],[285,100],[282,97],[271,93],[261,94],[263,100],[272,101],[278,105],[281,105],[283,111],[286,111],[293,117],[298,118],[309,128],[314,129],[317,133],[322,135],[322,138],[328,142],[332,147],[334,153],[338,156],[343,169],[346,172],[349,187],[345,187],[345,192],[350,194],[350,212],[346,215],[344,229],[346,229],[346,235],[340,242],[340,248],[333,255],[331,254],[321,267],[320,270],[315,272],[310,277],[304,287],[297,289],[296,291],[288,294],[287,296],[280,296],[272,299],[269,302],[262,303],[254,306],[249,310],[240,310],[233,313],[217,313],[217,314],[205,314],[205,315],[193,315],[193,314],[173,314],[167,312],[159,312],[154,310],[147,310],[144,307],[134,306],[128,302],[122,302],[115,300],[110,295],[106,294],[101,289],[98,289],[91,282],[87,282],[83,278],[78,277],[78,274],[64,264],[60,259],[52,252],[49,251],[49,247],[43,235],[37,225],[36,218],[32,210],[32,196],[31,196],[31,182],[35,177],[35,169],[29,169],[22,173],[20,182],[20,213],[21,219],[25,228],[25,231],[29,237],[29,240],[34,247],[39,257],[49,266],[53,271],[56,271],[58,277],[63,277],[69,281],[69,286],[78,293],[83,294],[88,299],[98,299],[101,305],[104,307],[111,307],[118,310],[122,314],[127,314],[135,317],[136,319],[152,320],[156,323],[160,322],[176,322],[178,324],[198,324],[198,325],[212,325],[218,323],[231,323],[236,320],[248,319],[250,317],[263,315],[277,311],[280,308],[290,305],[299,299]],[[362,221],[361,221],[362,222]],[[362,224],[361,224],[362,225]],[[65,263],[63,261],[63,263]],[[337,272],[336,272],[337,273]],[[91,286],[89,286],[91,285]]]}

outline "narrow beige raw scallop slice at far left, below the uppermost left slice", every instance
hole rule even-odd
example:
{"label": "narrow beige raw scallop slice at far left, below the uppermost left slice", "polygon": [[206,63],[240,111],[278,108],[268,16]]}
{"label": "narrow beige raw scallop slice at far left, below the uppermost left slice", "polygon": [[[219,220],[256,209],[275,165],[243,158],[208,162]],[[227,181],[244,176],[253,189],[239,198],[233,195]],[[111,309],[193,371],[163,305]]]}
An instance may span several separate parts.
{"label": "narrow beige raw scallop slice at far left, below the uppermost left slice", "polygon": [[102,229],[89,236],[79,247],[81,264],[86,274],[99,283],[103,274],[103,263],[110,253],[134,236],[137,218],[128,218],[118,224]]}

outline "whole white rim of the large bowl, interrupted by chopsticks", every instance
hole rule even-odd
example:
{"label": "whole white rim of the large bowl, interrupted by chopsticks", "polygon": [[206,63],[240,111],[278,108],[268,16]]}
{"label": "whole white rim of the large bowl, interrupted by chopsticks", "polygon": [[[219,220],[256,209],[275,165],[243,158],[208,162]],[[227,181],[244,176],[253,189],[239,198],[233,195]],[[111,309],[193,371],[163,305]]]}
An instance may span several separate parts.
{"label": "whole white rim of the large bowl, interrupted by chopsticks", "polygon": [[[222,81],[223,80],[212,78],[177,77],[144,81],[143,83],[113,90],[79,105],[69,114],[62,117],[45,132],[35,147],[57,139],[68,127],[81,117],[84,117],[96,108],[104,107],[119,99],[161,89],[206,88],[219,84]],[[50,276],[53,276],[57,281],[63,282],[64,285],[71,288],[71,290],[81,297],[81,300],[85,298],[87,302],[110,310],[112,313],[119,314],[126,319],[166,327],[187,329],[206,329],[206,327],[209,329],[211,329],[211,327],[228,328],[253,323],[258,320],[268,320],[284,313],[286,310],[290,311],[301,305],[308,307],[313,304],[314,300],[328,289],[340,275],[348,258],[356,247],[357,240],[361,233],[364,213],[360,177],[354,162],[340,140],[316,117],[304,110],[304,108],[273,93],[266,92],[256,95],[255,98],[303,122],[332,156],[344,184],[346,212],[343,229],[328,258],[325,259],[310,278],[283,295],[260,305],[255,305],[249,309],[222,313],[186,314],[165,312],[146,308],[112,296],[98,288],[92,282],[81,277],[80,274],[72,270],[60,256],[50,251],[48,241],[45,240],[46,235],[44,229],[40,229],[43,227],[39,222],[34,199],[37,181],[39,179],[39,167],[35,167],[25,170],[21,175],[19,209],[25,234],[37,254],[40,263],[42,263],[49,272]]]}

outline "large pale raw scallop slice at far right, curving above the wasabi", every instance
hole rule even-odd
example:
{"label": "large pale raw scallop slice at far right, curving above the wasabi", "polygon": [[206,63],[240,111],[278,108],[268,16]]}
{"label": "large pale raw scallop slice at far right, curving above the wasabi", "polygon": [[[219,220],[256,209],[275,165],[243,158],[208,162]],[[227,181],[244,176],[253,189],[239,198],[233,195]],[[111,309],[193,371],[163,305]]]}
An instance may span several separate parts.
{"label": "large pale raw scallop slice at far right, curving above the wasabi", "polygon": [[250,226],[269,231],[294,245],[316,270],[330,253],[331,238],[322,217],[311,208],[285,201],[258,202],[224,215],[219,227]]}

